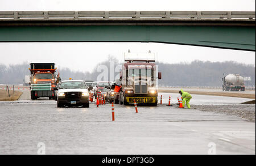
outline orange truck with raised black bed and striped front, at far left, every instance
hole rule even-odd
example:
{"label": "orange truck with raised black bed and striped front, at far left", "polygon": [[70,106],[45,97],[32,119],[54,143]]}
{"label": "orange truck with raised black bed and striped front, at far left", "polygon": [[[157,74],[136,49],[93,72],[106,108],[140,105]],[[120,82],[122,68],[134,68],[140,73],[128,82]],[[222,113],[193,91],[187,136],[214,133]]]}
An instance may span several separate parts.
{"label": "orange truck with raised black bed and striped front, at far left", "polygon": [[53,87],[60,81],[60,73],[55,75],[55,63],[30,63],[31,99],[49,97],[55,99]]}

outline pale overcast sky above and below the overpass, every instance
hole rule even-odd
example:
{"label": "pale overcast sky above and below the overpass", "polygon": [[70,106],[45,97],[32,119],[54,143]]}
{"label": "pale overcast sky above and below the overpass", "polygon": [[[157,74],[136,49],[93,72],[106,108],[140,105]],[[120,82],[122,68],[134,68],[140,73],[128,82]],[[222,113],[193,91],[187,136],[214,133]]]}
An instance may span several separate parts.
{"label": "pale overcast sky above and below the overpass", "polygon": [[[210,10],[210,11],[255,11],[255,0],[241,1],[35,1],[0,0],[0,11],[35,10]],[[160,62],[179,63],[202,61],[237,61],[255,65],[255,52],[206,48],[158,43],[126,42],[61,42],[61,43],[1,43],[0,63],[16,64],[27,62],[55,62],[58,67],[92,71],[98,62],[108,55],[122,61],[123,52],[157,54]],[[74,51],[76,50],[76,51]]]}

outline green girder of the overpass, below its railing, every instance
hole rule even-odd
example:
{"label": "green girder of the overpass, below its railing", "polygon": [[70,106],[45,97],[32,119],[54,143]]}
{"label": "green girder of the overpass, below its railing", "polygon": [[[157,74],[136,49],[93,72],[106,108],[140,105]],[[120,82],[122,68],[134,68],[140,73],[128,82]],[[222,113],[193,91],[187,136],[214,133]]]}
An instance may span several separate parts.
{"label": "green girder of the overpass, below its railing", "polygon": [[255,51],[255,26],[0,26],[0,42],[162,42]]}

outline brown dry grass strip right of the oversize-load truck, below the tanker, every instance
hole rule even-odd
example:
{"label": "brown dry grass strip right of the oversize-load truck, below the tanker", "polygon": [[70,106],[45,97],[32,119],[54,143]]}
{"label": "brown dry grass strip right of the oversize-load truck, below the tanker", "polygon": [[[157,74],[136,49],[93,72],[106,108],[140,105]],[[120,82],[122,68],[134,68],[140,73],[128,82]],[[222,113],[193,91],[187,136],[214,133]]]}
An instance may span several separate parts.
{"label": "brown dry grass strip right of the oversize-load truck, below the tanker", "polygon": [[[178,93],[177,90],[158,90],[158,92],[164,93]],[[226,96],[226,97],[241,97],[255,99],[255,94],[246,94],[246,93],[227,93],[227,92],[207,92],[207,91],[186,91],[195,95],[210,95],[210,96]]]}

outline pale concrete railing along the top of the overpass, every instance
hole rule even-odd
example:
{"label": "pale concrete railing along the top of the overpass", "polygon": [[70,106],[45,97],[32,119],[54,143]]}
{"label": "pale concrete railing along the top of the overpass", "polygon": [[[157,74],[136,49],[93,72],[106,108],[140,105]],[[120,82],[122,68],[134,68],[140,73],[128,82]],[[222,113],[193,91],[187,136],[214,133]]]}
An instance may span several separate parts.
{"label": "pale concrete railing along the top of the overpass", "polygon": [[0,20],[80,20],[90,18],[255,20],[255,11],[0,11]]}

